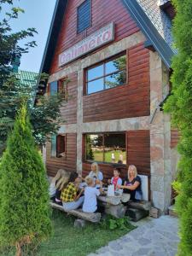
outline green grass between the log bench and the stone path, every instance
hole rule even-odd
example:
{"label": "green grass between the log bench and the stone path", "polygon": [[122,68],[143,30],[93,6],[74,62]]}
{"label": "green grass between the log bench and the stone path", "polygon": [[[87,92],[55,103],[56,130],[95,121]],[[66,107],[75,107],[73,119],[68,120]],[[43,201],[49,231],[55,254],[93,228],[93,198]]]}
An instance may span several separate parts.
{"label": "green grass between the log bench and the stone path", "polygon": [[[37,256],[85,256],[94,253],[109,241],[124,236],[127,230],[106,230],[100,224],[87,224],[84,229],[73,227],[74,219],[63,212],[53,211],[54,234],[49,241],[43,242],[38,247],[38,252],[31,255]],[[13,256],[13,251],[0,253],[1,256]],[[29,255],[24,253],[24,255]]]}

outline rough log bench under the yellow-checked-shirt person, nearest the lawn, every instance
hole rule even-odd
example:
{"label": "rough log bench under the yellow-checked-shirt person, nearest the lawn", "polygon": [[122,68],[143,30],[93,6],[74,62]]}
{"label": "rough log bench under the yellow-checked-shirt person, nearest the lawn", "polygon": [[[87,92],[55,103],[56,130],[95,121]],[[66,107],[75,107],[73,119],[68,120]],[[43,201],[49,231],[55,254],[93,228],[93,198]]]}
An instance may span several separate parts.
{"label": "rough log bench under the yellow-checked-shirt person, nearest the lawn", "polygon": [[98,223],[101,219],[101,213],[100,212],[83,212],[82,209],[72,210],[72,211],[65,211],[62,206],[55,204],[54,202],[50,201],[50,206],[52,208],[58,209],[61,212],[67,212],[75,217],[83,218],[84,220],[90,221],[92,223]]}

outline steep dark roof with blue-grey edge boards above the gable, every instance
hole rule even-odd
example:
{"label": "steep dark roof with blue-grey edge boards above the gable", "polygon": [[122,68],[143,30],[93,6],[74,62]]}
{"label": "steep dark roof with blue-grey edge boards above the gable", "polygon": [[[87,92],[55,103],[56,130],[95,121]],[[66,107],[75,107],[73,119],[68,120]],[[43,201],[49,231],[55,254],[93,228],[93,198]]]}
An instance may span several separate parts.
{"label": "steep dark roof with blue-grey edge boards above the gable", "polygon": [[[172,56],[176,50],[172,48],[172,22],[166,13],[160,9],[158,0],[121,0],[125,8],[143,31],[149,44],[160,54],[167,67],[171,66]],[[160,1],[168,2],[168,1]],[[61,21],[65,15],[67,0],[57,0],[55,11],[49,29],[44,57],[40,73],[49,73],[51,60],[55,52],[57,38],[61,29]]]}

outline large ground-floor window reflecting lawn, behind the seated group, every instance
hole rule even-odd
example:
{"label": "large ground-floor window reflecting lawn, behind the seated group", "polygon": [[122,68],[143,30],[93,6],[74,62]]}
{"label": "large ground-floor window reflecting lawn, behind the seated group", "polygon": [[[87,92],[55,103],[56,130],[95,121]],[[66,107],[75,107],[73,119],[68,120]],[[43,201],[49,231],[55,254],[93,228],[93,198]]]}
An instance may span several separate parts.
{"label": "large ground-floor window reflecting lawn, behind the seated group", "polygon": [[85,159],[126,164],[125,133],[85,135]]}

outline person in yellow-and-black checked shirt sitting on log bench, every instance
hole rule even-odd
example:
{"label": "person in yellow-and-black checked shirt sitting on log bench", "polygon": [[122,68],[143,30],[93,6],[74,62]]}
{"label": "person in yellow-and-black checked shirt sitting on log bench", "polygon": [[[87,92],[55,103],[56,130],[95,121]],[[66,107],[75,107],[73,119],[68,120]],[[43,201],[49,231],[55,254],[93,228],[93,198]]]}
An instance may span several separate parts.
{"label": "person in yellow-and-black checked shirt sitting on log bench", "polygon": [[[61,191],[62,206],[65,211],[78,209],[84,202],[84,189],[78,194],[81,179],[77,172],[71,172],[67,187]],[[82,196],[81,196],[82,195]]]}

